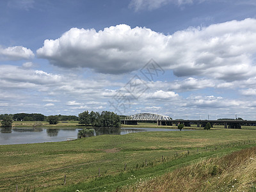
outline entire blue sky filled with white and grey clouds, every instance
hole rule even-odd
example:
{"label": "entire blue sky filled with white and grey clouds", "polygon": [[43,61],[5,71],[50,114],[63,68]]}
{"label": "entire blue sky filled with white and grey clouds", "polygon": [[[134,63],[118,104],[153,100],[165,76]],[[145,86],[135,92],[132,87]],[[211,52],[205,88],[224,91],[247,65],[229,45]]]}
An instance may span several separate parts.
{"label": "entire blue sky filled with white and grey clouds", "polygon": [[0,29],[0,114],[256,119],[254,0],[3,0]]}

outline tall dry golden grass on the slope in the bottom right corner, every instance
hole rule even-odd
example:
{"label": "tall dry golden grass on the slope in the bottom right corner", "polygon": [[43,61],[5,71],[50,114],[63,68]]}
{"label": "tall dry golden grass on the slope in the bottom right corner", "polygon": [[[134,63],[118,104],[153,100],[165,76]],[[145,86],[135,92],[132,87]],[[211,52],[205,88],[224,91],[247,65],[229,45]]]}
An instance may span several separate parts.
{"label": "tall dry golden grass on the slope in the bottom right corner", "polygon": [[138,180],[122,191],[256,191],[256,147],[202,159],[154,179]]}

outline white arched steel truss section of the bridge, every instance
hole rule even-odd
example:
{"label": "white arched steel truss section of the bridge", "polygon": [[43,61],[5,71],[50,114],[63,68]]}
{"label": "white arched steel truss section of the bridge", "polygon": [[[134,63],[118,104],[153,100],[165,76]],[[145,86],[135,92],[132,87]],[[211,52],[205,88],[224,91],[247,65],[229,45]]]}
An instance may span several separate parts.
{"label": "white arched steel truss section of the bridge", "polygon": [[135,115],[127,116],[125,120],[148,120],[148,121],[157,121],[157,120],[172,120],[169,116],[158,115],[153,113],[138,113]]}

